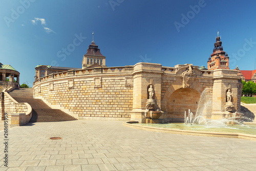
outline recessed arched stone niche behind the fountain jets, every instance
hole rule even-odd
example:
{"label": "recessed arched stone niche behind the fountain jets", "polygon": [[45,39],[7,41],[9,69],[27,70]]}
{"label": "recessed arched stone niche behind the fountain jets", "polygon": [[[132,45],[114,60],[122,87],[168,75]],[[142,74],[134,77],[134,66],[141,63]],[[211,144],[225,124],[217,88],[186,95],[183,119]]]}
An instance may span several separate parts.
{"label": "recessed arched stone niche behind the fountain jets", "polygon": [[190,109],[196,114],[200,92],[193,88],[180,88],[175,90],[166,101],[168,121],[184,121],[184,112]]}

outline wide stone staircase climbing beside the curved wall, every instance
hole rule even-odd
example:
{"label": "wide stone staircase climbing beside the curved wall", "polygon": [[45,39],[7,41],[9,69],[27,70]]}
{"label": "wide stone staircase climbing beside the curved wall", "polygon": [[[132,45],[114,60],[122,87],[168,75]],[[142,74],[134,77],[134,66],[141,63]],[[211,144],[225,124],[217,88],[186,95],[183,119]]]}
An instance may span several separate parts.
{"label": "wide stone staircase climbing beside the curved wall", "polygon": [[77,120],[59,109],[52,109],[40,99],[33,99],[32,88],[14,89],[9,94],[18,103],[27,102],[32,107],[30,122],[68,121]]}

